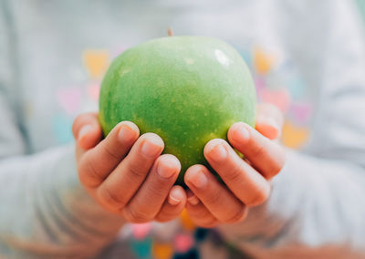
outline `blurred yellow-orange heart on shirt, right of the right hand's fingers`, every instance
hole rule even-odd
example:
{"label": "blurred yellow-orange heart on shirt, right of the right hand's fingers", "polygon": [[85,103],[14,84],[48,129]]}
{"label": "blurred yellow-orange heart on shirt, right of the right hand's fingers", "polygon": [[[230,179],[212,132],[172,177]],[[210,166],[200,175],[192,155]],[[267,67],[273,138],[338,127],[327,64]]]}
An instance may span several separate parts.
{"label": "blurred yellow-orange heart on shirt, right of the right hand's fingers", "polygon": [[298,127],[290,121],[286,121],[283,127],[282,142],[285,146],[292,149],[299,149],[308,140],[309,129]]}

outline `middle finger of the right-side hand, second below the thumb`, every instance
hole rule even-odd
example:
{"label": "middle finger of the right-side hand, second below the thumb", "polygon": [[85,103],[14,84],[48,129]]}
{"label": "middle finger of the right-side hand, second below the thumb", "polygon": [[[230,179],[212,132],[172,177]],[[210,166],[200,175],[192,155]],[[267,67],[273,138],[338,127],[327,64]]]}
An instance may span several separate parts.
{"label": "middle finger of the right-side hand, second below the thumb", "polygon": [[247,206],[266,201],[270,193],[268,181],[242,160],[226,141],[209,141],[204,148],[204,155],[240,201]]}

